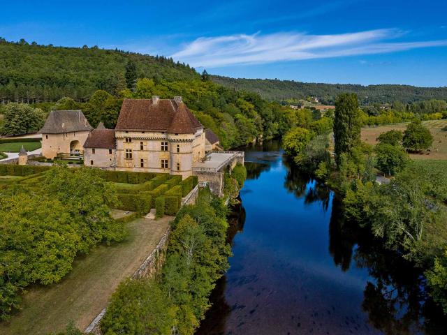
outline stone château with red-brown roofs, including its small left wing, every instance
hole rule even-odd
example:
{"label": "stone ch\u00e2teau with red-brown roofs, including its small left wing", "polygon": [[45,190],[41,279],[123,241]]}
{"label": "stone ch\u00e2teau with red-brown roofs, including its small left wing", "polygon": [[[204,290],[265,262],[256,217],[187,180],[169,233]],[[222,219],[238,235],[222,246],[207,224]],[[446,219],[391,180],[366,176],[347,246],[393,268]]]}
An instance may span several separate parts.
{"label": "stone ch\u00e2teau with red-brown roofs, including its small left wing", "polygon": [[91,131],[84,154],[89,166],[188,177],[205,157],[205,132],[179,96],[124,99],[115,129]]}

